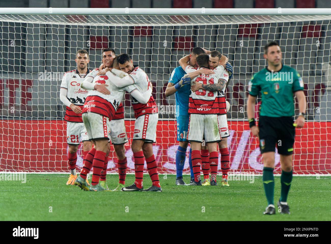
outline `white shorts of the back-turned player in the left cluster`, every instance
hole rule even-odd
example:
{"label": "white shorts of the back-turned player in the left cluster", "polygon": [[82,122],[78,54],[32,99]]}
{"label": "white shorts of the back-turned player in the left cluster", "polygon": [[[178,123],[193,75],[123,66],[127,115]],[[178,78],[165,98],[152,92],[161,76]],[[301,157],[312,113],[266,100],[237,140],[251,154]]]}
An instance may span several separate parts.
{"label": "white shorts of the back-turned player in the left cluster", "polygon": [[95,113],[82,114],[88,138],[90,140],[110,140],[110,121],[106,116]]}

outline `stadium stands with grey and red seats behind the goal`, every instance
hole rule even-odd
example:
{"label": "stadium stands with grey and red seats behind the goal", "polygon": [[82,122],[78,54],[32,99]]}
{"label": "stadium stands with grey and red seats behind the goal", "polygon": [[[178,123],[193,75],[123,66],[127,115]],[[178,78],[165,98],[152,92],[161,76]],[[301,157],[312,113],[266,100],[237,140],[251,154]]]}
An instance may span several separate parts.
{"label": "stadium stands with grey and red seats behind the goal", "polygon": [[[331,8],[329,0],[17,0],[0,1],[0,7],[75,8]],[[285,21],[285,20],[284,20]],[[246,86],[264,65],[263,45],[278,41],[284,63],[303,76],[308,97],[308,119],[331,120],[330,21],[175,27],[103,27],[1,22],[0,115],[3,119],[57,119],[65,111],[59,98],[61,79],[39,79],[44,72],[75,68],[75,53],[90,52],[90,68],[99,66],[101,48],[127,52],[144,68],[154,84],[157,104],[174,105],[164,90],[178,59],[195,46],[217,49],[234,65],[227,88],[229,119],[245,117]],[[318,45],[316,44],[318,42]],[[88,44],[90,43],[90,44]],[[330,70],[330,72],[329,72]],[[44,73],[47,75],[46,73]],[[61,76],[61,74],[59,74]],[[54,75],[53,75],[54,76]],[[44,77],[45,78],[45,77]],[[62,76],[60,77],[62,78]],[[38,85],[35,83],[38,80]],[[126,97],[125,105],[130,102]],[[14,109],[11,109],[14,108]],[[316,113],[316,108],[321,110]],[[11,113],[11,111],[14,113]],[[126,118],[133,118],[126,108]],[[160,114],[160,118],[174,118]]]}

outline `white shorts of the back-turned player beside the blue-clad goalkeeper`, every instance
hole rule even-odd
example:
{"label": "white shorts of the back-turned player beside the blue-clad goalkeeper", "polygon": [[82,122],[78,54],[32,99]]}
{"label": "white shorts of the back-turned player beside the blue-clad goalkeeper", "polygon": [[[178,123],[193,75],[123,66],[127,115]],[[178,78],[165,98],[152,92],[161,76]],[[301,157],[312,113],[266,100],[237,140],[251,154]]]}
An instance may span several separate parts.
{"label": "white shorts of the back-turned player beside the blue-clad goalkeeper", "polygon": [[221,140],[217,115],[190,115],[187,140],[202,142],[203,137],[205,137],[206,143],[219,142]]}

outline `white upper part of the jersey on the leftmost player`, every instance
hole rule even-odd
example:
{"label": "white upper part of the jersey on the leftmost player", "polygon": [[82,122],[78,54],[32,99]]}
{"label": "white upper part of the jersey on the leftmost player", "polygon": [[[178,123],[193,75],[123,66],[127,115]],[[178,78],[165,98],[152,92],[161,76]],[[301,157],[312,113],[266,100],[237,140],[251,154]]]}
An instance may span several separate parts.
{"label": "white upper part of the jersey on the leftmost player", "polygon": [[64,74],[61,88],[67,89],[67,99],[74,105],[83,105],[87,97],[88,91],[80,88],[80,84],[90,73],[87,70],[87,74],[79,74],[78,70],[71,70]]}

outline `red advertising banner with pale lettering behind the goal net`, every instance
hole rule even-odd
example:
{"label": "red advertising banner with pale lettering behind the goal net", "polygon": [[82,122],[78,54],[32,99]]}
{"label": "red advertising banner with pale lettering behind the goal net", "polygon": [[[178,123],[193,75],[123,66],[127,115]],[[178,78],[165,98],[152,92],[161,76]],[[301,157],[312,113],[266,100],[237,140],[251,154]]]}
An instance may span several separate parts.
{"label": "red advertising banner with pale lettering behind the goal net", "polygon": [[[129,142],[125,145],[128,172],[134,172],[130,141],[134,121],[126,121]],[[261,173],[263,169],[258,139],[252,136],[248,122],[229,121],[231,172]],[[159,121],[157,142],[153,150],[159,173],[175,173],[176,122]],[[79,145],[77,167],[82,167]],[[188,157],[187,149],[187,157]],[[0,171],[69,172],[66,143],[66,122],[43,120],[0,121]],[[221,156],[219,155],[219,161]],[[146,166],[145,166],[146,169]],[[184,173],[190,171],[186,158]],[[218,171],[221,172],[220,163]],[[108,172],[117,172],[117,158],[113,147]],[[147,172],[147,171],[146,171]],[[280,156],[275,155],[275,172],[280,173]],[[331,122],[307,122],[296,129],[294,145],[294,174],[331,174]]]}

